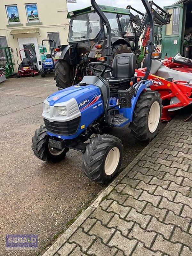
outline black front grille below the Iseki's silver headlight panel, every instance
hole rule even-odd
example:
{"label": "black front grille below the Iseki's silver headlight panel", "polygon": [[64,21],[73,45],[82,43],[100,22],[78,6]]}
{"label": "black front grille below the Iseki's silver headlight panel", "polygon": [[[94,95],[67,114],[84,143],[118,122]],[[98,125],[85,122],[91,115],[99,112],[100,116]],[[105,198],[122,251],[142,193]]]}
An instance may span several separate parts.
{"label": "black front grille below the Iseki's silver headlight panel", "polygon": [[48,132],[69,136],[77,132],[80,120],[81,116],[67,122],[50,122],[47,119],[44,119],[44,123]]}

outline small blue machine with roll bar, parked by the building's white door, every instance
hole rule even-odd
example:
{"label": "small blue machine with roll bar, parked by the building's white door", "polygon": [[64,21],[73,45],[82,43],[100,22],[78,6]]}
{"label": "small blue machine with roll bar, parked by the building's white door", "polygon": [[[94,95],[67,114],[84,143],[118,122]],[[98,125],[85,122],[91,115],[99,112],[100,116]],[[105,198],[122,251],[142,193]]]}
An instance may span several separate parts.
{"label": "small blue machine with roll bar, parked by the building's white door", "polygon": [[[45,49],[44,49],[44,41],[50,42],[51,54],[46,54],[46,56],[45,56]],[[44,39],[42,41],[42,47],[43,47],[43,61],[42,63],[41,61],[39,61],[39,65],[42,65],[42,68],[40,69],[41,77],[45,77],[47,73],[54,72],[54,69],[55,69],[55,41]],[[52,55],[54,56],[52,57]]]}

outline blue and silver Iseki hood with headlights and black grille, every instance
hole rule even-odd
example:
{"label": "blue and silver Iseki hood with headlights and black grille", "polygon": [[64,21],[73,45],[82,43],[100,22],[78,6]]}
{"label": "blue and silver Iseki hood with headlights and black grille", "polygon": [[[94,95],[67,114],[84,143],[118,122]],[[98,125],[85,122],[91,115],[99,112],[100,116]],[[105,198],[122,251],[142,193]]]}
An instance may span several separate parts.
{"label": "blue and silver Iseki hood with headlights and black grille", "polygon": [[75,85],[53,93],[44,100],[42,116],[50,136],[74,139],[103,112],[100,88],[90,84]]}

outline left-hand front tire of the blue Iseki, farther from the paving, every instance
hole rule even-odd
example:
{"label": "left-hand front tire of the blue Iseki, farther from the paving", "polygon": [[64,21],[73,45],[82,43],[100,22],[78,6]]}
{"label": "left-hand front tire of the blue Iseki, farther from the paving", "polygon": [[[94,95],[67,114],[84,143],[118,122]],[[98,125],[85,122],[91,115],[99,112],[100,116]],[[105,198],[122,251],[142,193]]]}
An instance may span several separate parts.
{"label": "left-hand front tire of the blue Iseki, farther from the paving", "polygon": [[46,162],[58,163],[65,158],[69,148],[64,148],[61,151],[51,148],[49,146],[49,138],[50,136],[47,134],[45,126],[41,125],[39,129],[35,131],[31,148],[35,156],[39,159]]}

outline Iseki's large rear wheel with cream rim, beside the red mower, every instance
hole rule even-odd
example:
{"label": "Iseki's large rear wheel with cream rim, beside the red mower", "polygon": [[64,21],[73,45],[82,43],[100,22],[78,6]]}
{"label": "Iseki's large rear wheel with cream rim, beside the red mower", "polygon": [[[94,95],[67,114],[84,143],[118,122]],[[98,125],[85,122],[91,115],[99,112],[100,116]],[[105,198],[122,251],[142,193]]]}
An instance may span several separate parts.
{"label": "Iseki's large rear wheel with cream rim, beside the red mower", "polygon": [[129,125],[132,136],[140,141],[151,141],[158,133],[161,122],[162,99],[156,91],[140,94],[133,119]]}

